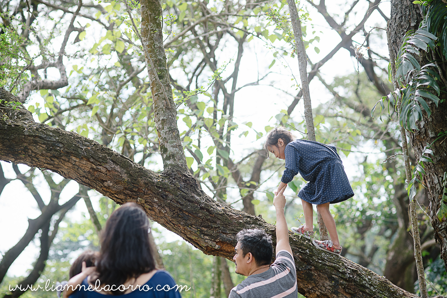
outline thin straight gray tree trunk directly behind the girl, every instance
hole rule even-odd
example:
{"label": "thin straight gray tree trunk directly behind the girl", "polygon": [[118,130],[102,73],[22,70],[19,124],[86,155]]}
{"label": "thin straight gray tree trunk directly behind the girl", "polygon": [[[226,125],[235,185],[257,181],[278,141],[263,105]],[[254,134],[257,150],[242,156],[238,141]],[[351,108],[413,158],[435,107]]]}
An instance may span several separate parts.
{"label": "thin straight gray tree trunk directly behind the girl", "polygon": [[[312,116],[312,103],[310,100],[309,82],[307,74],[307,56],[306,48],[303,41],[303,33],[301,31],[301,22],[299,21],[298,10],[296,9],[296,4],[294,0],[287,0],[290,11],[290,20],[292,23],[293,34],[295,36],[295,47],[296,55],[298,56],[299,65],[299,77],[301,78],[301,90],[303,90],[303,100],[304,100],[304,118],[306,120],[306,127],[308,130],[308,139],[310,141],[316,141],[315,139],[315,129],[313,127],[313,116]],[[318,210],[317,222],[318,229],[320,230],[320,240],[328,240],[328,230],[326,229],[323,218]]]}

